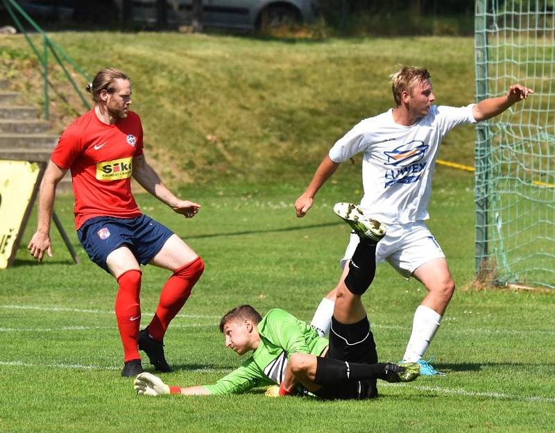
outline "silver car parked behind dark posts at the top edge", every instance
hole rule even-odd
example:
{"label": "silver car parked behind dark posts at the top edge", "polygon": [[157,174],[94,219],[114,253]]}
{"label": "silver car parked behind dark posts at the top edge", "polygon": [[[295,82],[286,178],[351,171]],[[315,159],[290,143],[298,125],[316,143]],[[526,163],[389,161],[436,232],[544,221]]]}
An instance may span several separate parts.
{"label": "silver car parked behind dark posts at the top edge", "polygon": [[[122,10],[123,0],[112,0]],[[320,14],[318,0],[202,0],[202,24],[252,30],[262,26],[311,22]],[[192,0],[167,0],[169,24],[189,24]],[[133,0],[134,22],[155,24],[156,0]]]}

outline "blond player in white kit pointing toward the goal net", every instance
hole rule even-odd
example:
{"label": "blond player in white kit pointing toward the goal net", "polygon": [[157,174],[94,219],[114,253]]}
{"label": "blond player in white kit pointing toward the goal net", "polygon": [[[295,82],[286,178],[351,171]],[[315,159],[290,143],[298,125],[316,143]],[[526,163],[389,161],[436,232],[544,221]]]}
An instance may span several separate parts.
{"label": "blond player in white kit pointing toward the goal net", "polygon": [[[445,255],[425,225],[432,191],[432,175],[438,147],[455,126],[472,124],[497,116],[526,99],[533,90],[520,84],[497,98],[466,107],[434,105],[432,81],[427,69],[401,67],[391,79],[395,108],[364,119],[334,144],[321,162],[305,192],[295,202],[297,217],[304,217],[314,196],[341,162],[363,153],[364,196],[361,210],[383,221],[387,234],[379,242],[376,263],[387,260],[405,278],[422,282],[427,294],[416,309],[404,362],[419,362],[420,374],[437,371],[422,359],[434,337],[455,288]],[[341,260],[345,279],[359,238],[351,235]],[[339,285],[338,285],[339,287]],[[312,325],[321,334],[330,329],[336,289],[322,300]]]}

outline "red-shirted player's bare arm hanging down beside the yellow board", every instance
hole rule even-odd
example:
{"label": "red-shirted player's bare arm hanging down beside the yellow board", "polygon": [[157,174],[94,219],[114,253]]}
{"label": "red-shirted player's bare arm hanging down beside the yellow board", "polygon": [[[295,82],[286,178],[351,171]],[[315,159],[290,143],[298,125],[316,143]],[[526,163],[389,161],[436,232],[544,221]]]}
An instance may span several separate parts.
{"label": "red-shirted player's bare arm hanging down beside the yellow board", "polygon": [[47,252],[52,257],[52,244],[50,241],[50,219],[56,198],[56,186],[65,176],[67,170],[62,170],[52,161],[49,162],[39,190],[39,212],[37,231],[31,238],[27,249],[35,259],[42,263],[42,257]]}

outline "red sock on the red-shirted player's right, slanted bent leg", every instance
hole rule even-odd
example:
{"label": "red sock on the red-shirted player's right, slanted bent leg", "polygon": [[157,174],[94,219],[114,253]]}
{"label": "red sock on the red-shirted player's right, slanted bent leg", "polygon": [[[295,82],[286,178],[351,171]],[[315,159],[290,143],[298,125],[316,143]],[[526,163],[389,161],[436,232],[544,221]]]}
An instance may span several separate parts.
{"label": "red sock on the red-shirted player's right, slanted bent leg", "polygon": [[191,294],[193,286],[204,271],[204,263],[200,257],[185,264],[175,271],[167,280],[162,293],[160,303],[151,323],[148,325],[148,334],[157,341],[164,339],[164,334],[171,319],[178,314],[181,307],[185,304]]}

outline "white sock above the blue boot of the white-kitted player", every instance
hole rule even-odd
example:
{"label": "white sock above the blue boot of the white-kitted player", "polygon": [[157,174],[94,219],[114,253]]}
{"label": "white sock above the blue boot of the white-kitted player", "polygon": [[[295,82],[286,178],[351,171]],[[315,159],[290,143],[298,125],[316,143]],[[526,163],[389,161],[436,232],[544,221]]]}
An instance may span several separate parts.
{"label": "white sock above the blue boot of the white-kitted player", "polygon": [[441,316],[433,309],[424,305],[418,306],[414,313],[411,338],[403,356],[404,362],[417,362],[422,358],[440,322]]}

